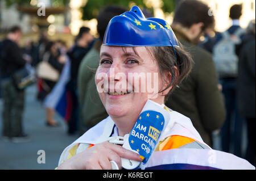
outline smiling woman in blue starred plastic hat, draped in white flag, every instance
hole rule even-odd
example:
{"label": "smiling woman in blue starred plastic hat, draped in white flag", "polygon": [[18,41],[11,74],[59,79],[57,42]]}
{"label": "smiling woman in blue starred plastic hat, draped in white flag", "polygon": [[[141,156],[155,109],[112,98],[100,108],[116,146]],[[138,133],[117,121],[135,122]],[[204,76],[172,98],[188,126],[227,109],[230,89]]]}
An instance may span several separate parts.
{"label": "smiling woman in blue starred plastic hat, draped in white flag", "polygon": [[[122,169],[131,168],[125,164],[134,162],[144,163],[138,164],[138,169],[228,168],[220,166],[216,159],[209,162],[209,157],[218,155],[225,162],[232,156],[209,152],[211,149],[191,120],[164,105],[166,96],[189,73],[191,66],[191,57],[164,20],[144,18],[137,6],[115,16],[106,29],[95,76],[109,117],[63,151],[58,169]],[[154,105],[151,112],[141,113],[148,102]],[[168,115],[167,119],[156,112],[158,107]],[[149,123],[158,123],[159,128]],[[127,142],[135,145],[127,136],[144,143],[139,149],[131,146],[134,149],[127,150]],[[153,148],[151,157],[142,156],[143,150],[151,153]],[[246,165],[242,159],[237,163]]]}

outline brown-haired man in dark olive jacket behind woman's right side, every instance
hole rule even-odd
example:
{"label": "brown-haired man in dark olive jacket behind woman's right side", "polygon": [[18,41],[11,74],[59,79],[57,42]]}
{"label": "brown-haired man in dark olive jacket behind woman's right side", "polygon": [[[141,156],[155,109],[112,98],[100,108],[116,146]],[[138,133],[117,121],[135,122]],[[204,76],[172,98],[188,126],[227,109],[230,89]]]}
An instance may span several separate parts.
{"label": "brown-haired man in dark olive jacket behind woman's right side", "polygon": [[172,30],[191,53],[195,64],[188,77],[167,100],[166,106],[189,117],[204,142],[212,146],[211,134],[222,127],[225,107],[218,90],[212,56],[197,46],[200,37],[214,24],[208,10],[209,7],[203,2],[191,0],[182,1],[176,8]]}

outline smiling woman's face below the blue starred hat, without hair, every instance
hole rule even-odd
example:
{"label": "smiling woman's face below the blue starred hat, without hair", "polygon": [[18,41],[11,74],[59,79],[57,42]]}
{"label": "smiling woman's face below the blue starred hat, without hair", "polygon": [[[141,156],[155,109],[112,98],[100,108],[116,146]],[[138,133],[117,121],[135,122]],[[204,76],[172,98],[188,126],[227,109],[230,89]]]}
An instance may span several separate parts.
{"label": "smiling woman's face below the blue starred hat, without hair", "polygon": [[158,94],[163,81],[156,61],[145,47],[136,47],[136,52],[131,47],[101,47],[96,85],[112,118],[138,115],[147,99],[164,103]]}

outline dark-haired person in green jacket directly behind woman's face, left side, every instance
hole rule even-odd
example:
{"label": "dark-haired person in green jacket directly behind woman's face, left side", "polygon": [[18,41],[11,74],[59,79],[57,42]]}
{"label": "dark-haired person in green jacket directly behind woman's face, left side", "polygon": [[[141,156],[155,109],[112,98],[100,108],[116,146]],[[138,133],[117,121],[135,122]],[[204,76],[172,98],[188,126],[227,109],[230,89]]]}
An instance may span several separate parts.
{"label": "dark-haired person in green jacket directly behind woman's face, left side", "polygon": [[97,16],[97,31],[100,38],[94,42],[92,49],[90,49],[88,54],[86,54],[81,61],[77,78],[80,107],[80,133],[84,133],[108,116],[108,113],[98,96],[97,87],[94,82],[94,73],[92,70],[98,68],[100,47],[109,20],[125,11],[126,9],[123,7],[106,6],[100,10],[100,13]]}

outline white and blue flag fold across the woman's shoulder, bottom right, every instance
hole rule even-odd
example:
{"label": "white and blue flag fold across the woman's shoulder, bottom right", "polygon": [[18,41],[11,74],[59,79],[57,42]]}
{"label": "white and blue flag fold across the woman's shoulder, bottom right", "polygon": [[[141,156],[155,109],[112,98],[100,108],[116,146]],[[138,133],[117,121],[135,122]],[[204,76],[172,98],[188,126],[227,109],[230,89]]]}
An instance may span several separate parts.
{"label": "white and blue flag fold across the woman's shoulder, bottom right", "polygon": [[155,151],[146,170],[251,170],[245,159],[213,149],[178,148]]}

